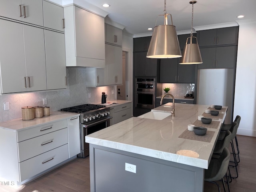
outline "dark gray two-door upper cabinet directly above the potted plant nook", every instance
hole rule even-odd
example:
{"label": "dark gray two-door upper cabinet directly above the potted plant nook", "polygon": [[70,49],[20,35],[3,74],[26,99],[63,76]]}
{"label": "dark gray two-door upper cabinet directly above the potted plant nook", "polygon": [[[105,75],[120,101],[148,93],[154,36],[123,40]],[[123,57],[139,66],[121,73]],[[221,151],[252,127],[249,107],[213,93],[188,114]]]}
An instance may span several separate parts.
{"label": "dark gray two-door upper cabinet directly above the potted plant nook", "polygon": [[181,65],[179,58],[160,60],[160,83],[194,83],[195,65]]}

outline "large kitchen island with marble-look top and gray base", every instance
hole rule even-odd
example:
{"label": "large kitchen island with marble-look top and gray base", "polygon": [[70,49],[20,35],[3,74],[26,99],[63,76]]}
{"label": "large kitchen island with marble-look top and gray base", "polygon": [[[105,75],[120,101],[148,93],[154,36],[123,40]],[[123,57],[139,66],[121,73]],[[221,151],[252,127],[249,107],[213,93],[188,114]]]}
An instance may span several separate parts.
{"label": "large kitchen island with marble-look top and gray base", "polygon": [[[171,105],[152,111],[168,113]],[[86,136],[90,143],[91,192],[202,192],[204,169],[210,163],[227,108],[213,119],[216,127],[208,128],[212,134],[209,142],[180,136],[208,107],[175,104],[174,117],[133,117]],[[188,153],[177,154],[180,150]]]}

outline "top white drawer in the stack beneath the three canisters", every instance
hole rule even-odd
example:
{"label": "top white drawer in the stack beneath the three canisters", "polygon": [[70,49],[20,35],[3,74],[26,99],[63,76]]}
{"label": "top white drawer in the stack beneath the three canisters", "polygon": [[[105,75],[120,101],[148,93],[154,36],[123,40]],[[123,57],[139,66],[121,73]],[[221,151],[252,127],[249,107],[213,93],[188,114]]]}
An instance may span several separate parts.
{"label": "top white drawer in the stack beneath the three canisters", "polygon": [[18,142],[68,127],[66,119],[17,132]]}

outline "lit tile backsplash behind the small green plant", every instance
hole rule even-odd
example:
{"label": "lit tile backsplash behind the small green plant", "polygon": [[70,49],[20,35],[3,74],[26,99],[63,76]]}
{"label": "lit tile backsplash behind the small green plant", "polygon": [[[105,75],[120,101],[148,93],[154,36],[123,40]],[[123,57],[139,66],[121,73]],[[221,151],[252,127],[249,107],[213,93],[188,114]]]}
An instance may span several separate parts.
{"label": "lit tile backsplash behind the small green plant", "polygon": [[194,83],[163,83],[162,94],[164,94],[164,88],[170,88],[168,93],[172,94],[174,98],[184,98],[186,93],[192,92],[194,94]]}

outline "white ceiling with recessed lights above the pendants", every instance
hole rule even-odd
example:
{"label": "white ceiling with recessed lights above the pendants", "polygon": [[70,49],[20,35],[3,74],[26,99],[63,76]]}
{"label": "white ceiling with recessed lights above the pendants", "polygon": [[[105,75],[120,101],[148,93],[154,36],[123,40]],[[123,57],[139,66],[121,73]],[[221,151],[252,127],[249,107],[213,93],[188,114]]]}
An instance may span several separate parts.
{"label": "white ceiling with recessed lights above the pendants", "polygon": [[[164,0],[85,0],[108,12],[110,20],[125,26],[130,34],[144,34],[149,27],[164,24]],[[166,12],[172,14],[176,31],[190,30],[192,4],[190,0],[166,0]],[[110,4],[104,8],[102,4]],[[194,4],[193,27],[256,19],[256,0],[198,0]],[[237,18],[244,15],[244,18]],[[158,17],[157,23],[156,19]],[[171,24],[168,16],[168,24]]]}

